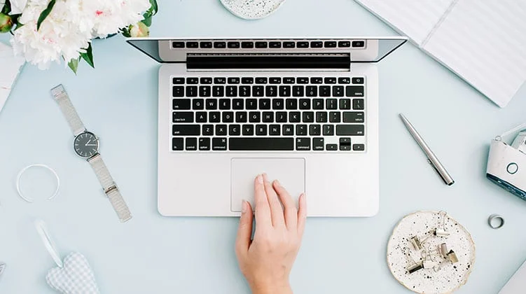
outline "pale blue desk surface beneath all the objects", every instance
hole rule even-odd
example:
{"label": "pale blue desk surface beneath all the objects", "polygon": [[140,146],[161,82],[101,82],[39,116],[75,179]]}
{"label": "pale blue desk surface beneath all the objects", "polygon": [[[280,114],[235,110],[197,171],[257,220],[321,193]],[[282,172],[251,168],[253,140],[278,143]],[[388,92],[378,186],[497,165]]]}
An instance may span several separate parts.
{"label": "pale blue desk surface beneath all the objects", "polygon": [[[152,36],[385,36],[396,34],[351,0],[288,0],[265,20],[244,21],[217,0],[160,1]],[[0,37],[6,41],[8,35]],[[156,207],[158,64],[116,37],[94,44],[96,70],[26,65],[0,113],[0,293],[52,293],[53,260],[32,225],[42,218],[66,255],[90,260],[102,293],[249,293],[237,269],[236,218],[163,218]],[[483,62],[483,61],[481,61]],[[497,293],[526,258],[526,202],[485,179],[490,140],[525,120],[526,93],[499,109],[406,44],[379,64],[380,214],[307,221],[291,274],[296,293],[408,293],[385,261],[387,239],[406,214],[444,209],[476,241],[473,273],[459,293]],[[90,166],[71,149],[50,98],[63,83],[102,139],[101,153],[134,218],[120,224]],[[406,113],[457,183],[441,183],[398,113]],[[27,204],[15,178],[32,163],[54,167],[60,195]],[[175,180],[175,179],[174,179]],[[44,182],[47,183],[47,182]],[[487,217],[506,218],[501,230]]]}

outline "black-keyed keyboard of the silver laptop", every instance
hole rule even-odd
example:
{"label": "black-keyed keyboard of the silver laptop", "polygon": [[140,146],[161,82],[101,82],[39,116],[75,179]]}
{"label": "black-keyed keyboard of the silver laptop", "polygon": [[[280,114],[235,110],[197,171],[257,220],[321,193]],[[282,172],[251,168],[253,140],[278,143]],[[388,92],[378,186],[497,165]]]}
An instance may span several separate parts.
{"label": "black-keyed keyboard of the silver laptop", "polygon": [[172,151],[364,152],[365,79],[172,78]]}

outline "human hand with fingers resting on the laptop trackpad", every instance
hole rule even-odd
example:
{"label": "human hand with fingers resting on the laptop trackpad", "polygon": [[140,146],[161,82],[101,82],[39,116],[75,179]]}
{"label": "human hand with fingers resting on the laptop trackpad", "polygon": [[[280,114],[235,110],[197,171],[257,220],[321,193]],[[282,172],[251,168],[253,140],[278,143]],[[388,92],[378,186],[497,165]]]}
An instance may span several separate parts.
{"label": "human hand with fingers resting on the laptop trackpad", "polygon": [[[280,202],[281,201],[281,202]],[[305,194],[299,209],[279,181],[270,183],[267,175],[254,180],[256,232],[251,240],[254,214],[243,200],[235,253],[241,272],[254,294],[289,294],[289,274],[300,249],[305,230]],[[282,207],[283,204],[283,207]]]}

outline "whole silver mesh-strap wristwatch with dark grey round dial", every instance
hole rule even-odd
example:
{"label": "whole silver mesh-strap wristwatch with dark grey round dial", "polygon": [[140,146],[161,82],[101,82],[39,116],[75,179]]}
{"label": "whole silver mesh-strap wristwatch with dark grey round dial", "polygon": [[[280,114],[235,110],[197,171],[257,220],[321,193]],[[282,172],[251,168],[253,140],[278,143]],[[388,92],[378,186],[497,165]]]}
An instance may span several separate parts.
{"label": "whole silver mesh-strap wristwatch with dark grey round dial", "polygon": [[104,190],[104,194],[109,198],[120,221],[123,223],[129,221],[132,218],[130,209],[128,209],[123,196],[120,195],[116,183],[113,181],[108,168],[99,154],[99,138],[85,129],[81,118],[78,117],[78,113],[73,104],[71,104],[66,90],[64,90],[64,86],[57,85],[57,87],[51,89],[51,95],[60,107],[62,114],[64,114],[64,117],[69,123],[69,127],[71,127],[71,131],[75,137],[73,143],[75,153],[90,162]]}

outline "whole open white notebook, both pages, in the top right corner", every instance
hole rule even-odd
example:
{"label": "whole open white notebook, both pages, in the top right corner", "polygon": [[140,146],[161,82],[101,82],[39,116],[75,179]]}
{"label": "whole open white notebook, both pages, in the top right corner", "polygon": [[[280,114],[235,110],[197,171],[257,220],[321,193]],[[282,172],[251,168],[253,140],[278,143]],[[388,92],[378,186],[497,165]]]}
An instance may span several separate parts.
{"label": "whole open white notebook, both pages, in the top right corner", "polygon": [[526,1],[355,1],[495,104],[526,97]]}

